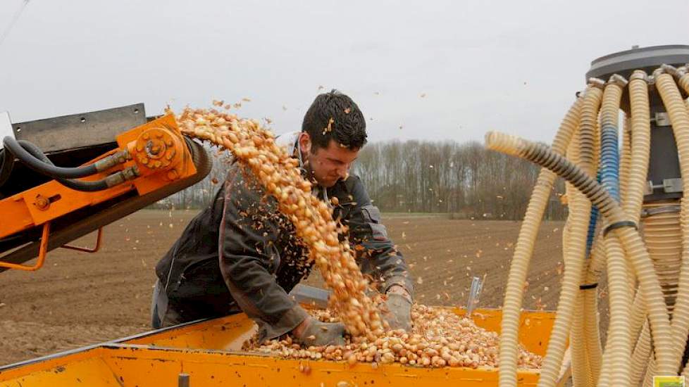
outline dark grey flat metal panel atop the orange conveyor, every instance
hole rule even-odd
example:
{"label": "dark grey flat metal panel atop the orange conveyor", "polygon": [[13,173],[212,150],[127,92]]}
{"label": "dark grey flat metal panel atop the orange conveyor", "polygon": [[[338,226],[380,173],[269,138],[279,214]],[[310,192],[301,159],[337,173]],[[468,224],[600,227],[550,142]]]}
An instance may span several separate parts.
{"label": "dark grey flat metal panel atop the orange conveyor", "polygon": [[45,153],[115,143],[115,137],[146,123],[143,103],[13,124],[15,137]]}

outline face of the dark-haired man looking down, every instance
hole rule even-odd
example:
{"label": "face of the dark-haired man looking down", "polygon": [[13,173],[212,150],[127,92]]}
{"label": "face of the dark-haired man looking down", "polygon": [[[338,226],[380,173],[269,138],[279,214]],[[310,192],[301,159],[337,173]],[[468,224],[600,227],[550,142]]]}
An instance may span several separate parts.
{"label": "face of the dark-haired man looking down", "polygon": [[334,186],[337,180],[347,177],[349,167],[359,155],[359,149],[352,151],[340,146],[332,139],[327,148],[316,148],[306,132],[299,135],[299,145],[302,148],[302,159],[306,169],[311,173],[311,179],[325,188]]}

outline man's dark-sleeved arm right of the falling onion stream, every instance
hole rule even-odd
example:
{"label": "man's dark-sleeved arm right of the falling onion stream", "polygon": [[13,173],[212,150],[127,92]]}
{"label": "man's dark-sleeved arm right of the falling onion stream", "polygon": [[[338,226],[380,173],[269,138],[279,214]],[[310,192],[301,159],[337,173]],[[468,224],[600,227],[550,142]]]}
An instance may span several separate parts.
{"label": "man's dark-sleeved arm right of the falling onion stream", "polygon": [[361,261],[361,272],[370,275],[380,285],[381,293],[400,293],[400,288],[411,297],[414,285],[409,267],[402,253],[387,236],[387,229],[380,222],[380,210],[371,203],[361,179],[352,186],[354,208],[349,213],[349,242]]}

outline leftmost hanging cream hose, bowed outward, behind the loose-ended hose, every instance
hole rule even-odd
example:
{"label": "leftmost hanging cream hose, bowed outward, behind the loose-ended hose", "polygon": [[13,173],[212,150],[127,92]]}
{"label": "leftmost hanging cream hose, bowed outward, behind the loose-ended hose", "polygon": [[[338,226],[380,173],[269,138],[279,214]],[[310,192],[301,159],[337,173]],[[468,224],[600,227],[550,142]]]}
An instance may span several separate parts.
{"label": "leftmost hanging cream hose, bowed outward, behind the loose-ended hose", "polygon": [[[590,87],[588,89],[591,89]],[[587,90],[588,90],[587,89]],[[583,100],[578,98],[564,116],[553,140],[552,149],[564,153],[576,129]],[[504,305],[502,307],[502,333],[500,335],[499,385],[512,387],[517,384],[517,354],[519,345],[519,315],[524,296],[523,283],[533,254],[533,246],[543,212],[550,198],[550,190],[556,175],[543,168],[534,186],[507,278]]]}

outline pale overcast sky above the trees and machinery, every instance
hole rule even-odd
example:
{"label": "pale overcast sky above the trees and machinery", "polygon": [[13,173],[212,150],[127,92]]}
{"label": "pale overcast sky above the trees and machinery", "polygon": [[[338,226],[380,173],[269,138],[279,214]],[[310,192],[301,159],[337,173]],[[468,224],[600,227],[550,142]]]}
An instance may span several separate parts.
{"label": "pale overcast sky above the trees and machinery", "polygon": [[[23,1],[0,1],[0,33]],[[0,111],[247,97],[282,133],[324,87],[373,141],[550,142],[590,61],[633,44],[689,44],[689,1],[30,0],[0,45]]]}

